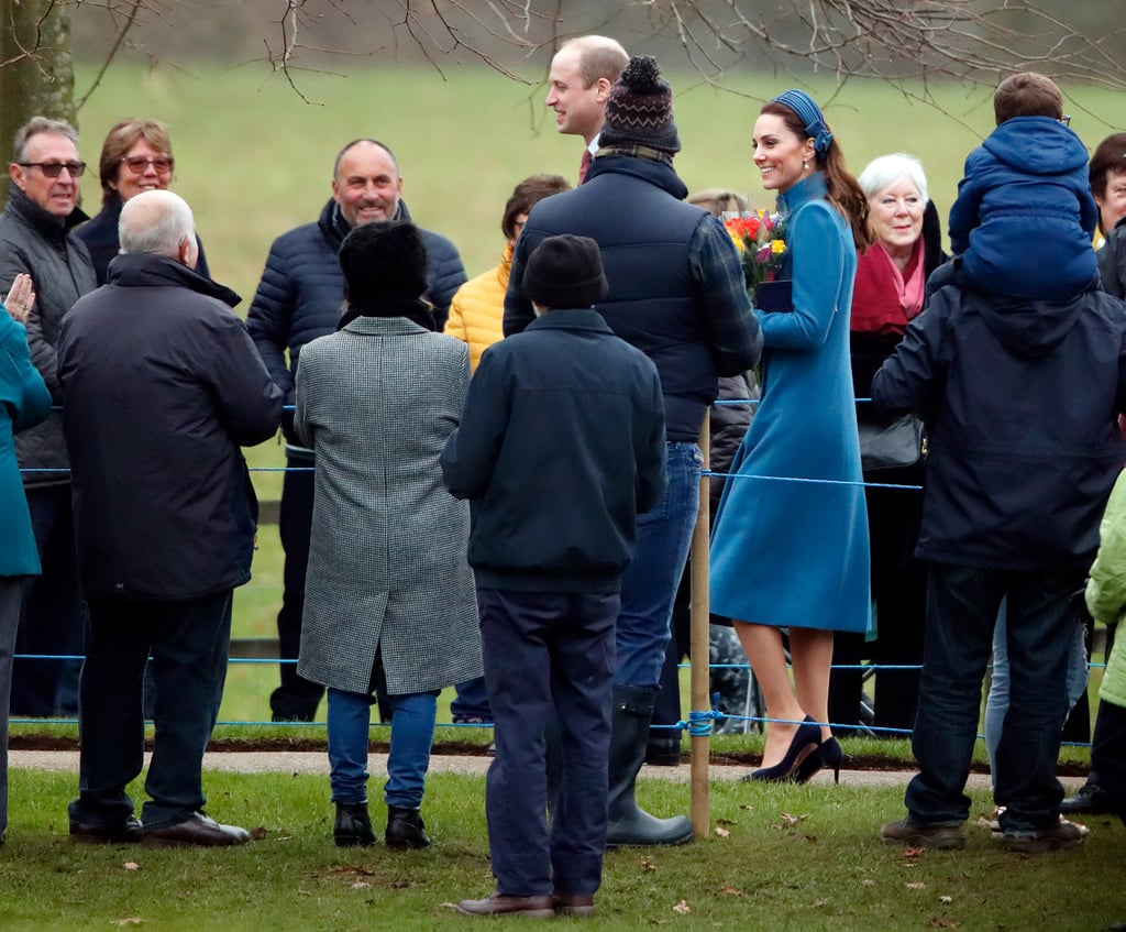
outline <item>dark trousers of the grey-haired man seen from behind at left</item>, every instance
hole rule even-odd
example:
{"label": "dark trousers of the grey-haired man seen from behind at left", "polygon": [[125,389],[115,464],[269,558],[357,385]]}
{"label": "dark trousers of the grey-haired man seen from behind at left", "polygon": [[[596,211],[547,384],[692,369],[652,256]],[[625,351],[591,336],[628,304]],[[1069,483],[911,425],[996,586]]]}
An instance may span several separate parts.
{"label": "dark trousers of the grey-haired man seen from behind at left", "polygon": [[231,592],[181,602],[90,602],[72,819],[114,827],[133,814],[126,784],[144,763],[143,678],[157,684],[141,818],[157,828],[204,808],[203,760],[231,642]]}

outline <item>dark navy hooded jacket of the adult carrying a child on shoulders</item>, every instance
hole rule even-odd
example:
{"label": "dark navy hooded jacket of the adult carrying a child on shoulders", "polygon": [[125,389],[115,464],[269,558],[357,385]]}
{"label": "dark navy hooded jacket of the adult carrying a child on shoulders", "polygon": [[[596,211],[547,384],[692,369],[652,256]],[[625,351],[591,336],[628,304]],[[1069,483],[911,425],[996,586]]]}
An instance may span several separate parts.
{"label": "dark navy hooded jacket of the adult carrying a child on shoulders", "polygon": [[1036,571],[1083,569],[1126,459],[1126,304],[1100,291],[1002,302],[938,287],[872,382],[873,401],[927,421],[917,556]]}

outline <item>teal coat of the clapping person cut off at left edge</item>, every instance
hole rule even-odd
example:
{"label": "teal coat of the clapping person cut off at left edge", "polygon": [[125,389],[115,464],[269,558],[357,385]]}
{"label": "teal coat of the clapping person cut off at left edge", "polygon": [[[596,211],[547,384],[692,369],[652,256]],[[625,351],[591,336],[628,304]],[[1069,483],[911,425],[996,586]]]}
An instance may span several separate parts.
{"label": "teal coat of the clapping person cut off at left edge", "polygon": [[46,420],[50,412],[51,392],[32,365],[24,326],[0,308],[0,576],[39,571],[14,435]]}

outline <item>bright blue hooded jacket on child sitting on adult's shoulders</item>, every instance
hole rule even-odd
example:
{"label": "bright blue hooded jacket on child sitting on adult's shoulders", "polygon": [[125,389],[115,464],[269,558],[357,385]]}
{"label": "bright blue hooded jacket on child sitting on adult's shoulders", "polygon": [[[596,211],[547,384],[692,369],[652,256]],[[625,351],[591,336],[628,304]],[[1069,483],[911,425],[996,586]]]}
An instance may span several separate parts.
{"label": "bright blue hooded jacket on child sitting on adult's shoulders", "polygon": [[1063,300],[1098,277],[1099,212],[1079,136],[1046,116],[998,126],[966,158],[950,208],[950,249],[978,287]]}

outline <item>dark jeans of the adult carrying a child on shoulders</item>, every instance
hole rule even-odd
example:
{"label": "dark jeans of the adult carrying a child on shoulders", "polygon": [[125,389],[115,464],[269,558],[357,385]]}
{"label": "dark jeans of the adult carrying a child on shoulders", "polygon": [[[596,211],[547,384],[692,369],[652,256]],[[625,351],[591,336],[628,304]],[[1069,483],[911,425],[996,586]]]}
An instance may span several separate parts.
{"label": "dark jeans of the adult carrying a child on shoulders", "polygon": [[1002,600],[1008,600],[1010,703],[998,743],[993,798],[1007,807],[1001,814],[1007,832],[1036,831],[1058,819],[1063,787],[1055,765],[1074,637],[1071,597],[1082,584],[1081,571],[931,565],[911,744],[920,772],[905,793],[912,822],[950,825],[969,817],[965,784]]}

